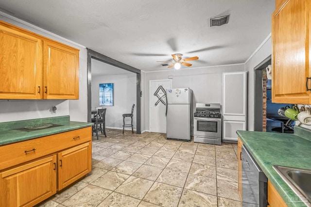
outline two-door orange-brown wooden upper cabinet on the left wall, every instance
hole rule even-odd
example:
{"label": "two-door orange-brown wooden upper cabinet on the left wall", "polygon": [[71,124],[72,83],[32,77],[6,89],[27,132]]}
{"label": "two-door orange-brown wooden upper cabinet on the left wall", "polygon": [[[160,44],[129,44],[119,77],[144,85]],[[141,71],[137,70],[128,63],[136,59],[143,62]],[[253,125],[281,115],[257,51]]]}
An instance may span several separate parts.
{"label": "two-door orange-brown wooden upper cabinet on the left wall", "polygon": [[78,99],[79,50],[0,21],[0,99]]}

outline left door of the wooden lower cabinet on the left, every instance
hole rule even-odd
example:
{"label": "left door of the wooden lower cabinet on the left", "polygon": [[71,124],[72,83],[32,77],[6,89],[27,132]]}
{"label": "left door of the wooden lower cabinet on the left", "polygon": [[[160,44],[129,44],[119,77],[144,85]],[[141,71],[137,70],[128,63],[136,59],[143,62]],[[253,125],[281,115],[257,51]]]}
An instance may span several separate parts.
{"label": "left door of the wooden lower cabinet on the left", "polygon": [[56,193],[56,155],[0,173],[0,206],[29,206]]}

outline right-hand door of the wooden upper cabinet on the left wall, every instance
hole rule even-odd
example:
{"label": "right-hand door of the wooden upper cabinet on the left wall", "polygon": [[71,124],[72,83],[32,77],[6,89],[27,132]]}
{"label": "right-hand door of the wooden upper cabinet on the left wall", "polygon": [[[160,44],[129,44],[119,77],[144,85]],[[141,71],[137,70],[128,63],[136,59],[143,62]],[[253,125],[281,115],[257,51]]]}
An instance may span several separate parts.
{"label": "right-hand door of the wooden upper cabinet on the left wall", "polygon": [[44,41],[44,99],[79,98],[79,50]]}

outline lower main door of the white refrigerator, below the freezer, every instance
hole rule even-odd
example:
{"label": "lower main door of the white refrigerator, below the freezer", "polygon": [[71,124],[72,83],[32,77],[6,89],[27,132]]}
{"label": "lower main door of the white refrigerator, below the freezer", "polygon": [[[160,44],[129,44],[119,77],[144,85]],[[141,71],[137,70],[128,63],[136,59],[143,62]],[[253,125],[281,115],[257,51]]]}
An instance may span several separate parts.
{"label": "lower main door of the white refrigerator, below the freezer", "polygon": [[168,104],[166,137],[190,140],[190,104]]}

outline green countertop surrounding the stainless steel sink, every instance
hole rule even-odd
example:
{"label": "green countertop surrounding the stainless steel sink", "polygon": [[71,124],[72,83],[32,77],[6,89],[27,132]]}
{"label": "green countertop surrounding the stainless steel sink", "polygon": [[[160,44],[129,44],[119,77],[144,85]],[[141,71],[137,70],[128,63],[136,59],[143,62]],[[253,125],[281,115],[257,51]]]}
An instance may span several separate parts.
{"label": "green countertop surrounding the stainless steel sink", "polygon": [[273,165],[311,169],[311,131],[295,127],[295,134],[237,131],[243,144],[288,207],[306,207],[272,168]]}

